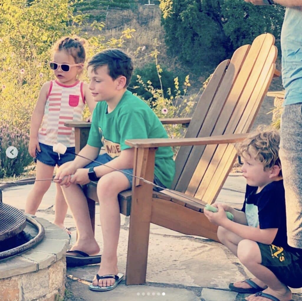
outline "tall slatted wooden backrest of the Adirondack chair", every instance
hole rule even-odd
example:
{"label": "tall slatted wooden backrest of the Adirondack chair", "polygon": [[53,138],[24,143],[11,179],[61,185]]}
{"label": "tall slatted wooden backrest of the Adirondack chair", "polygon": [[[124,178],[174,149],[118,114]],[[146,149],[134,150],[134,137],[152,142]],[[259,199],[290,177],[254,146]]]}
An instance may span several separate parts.
{"label": "tall slatted wooden backrest of the Adirondack chair", "polygon": [[[201,95],[185,137],[247,133],[275,71],[275,37],[262,34],[216,68]],[[207,203],[216,199],[236,159],[233,144],[182,146],[173,189]]]}

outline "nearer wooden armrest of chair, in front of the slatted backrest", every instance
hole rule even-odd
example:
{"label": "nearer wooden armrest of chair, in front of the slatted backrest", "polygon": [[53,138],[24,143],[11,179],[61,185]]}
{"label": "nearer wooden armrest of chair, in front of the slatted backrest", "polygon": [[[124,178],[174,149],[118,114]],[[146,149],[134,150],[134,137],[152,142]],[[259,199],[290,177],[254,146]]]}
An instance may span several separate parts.
{"label": "nearer wooden armrest of chair, in front of the slatted backrest", "polygon": [[235,143],[243,141],[249,133],[244,134],[227,134],[221,136],[200,137],[200,138],[157,138],[157,139],[130,139],[125,144],[136,148],[153,148],[161,146],[190,146],[190,145],[207,145]]}

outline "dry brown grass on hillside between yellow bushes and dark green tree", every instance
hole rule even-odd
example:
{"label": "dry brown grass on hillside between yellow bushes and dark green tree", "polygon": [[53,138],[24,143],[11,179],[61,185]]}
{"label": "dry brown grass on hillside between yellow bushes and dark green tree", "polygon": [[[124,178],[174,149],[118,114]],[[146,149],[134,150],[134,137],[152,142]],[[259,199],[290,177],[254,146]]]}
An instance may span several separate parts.
{"label": "dry brown grass on hillside between yellow bushes and dark green tree", "polygon": [[[165,30],[161,26],[161,12],[157,5],[140,5],[137,11],[110,10],[105,27],[101,31],[95,31],[95,34],[101,34],[105,37],[105,40],[111,38],[118,39],[127,28],[136,30],[133,33],[133,37],[126,40],[123,46],[123,49],[133,56],[135,67],[141,68],[146,65],[146,63],[151,62],[153,58],[151,58],[149,54],[156,47],[160,52],[158,56],[159,64],[176,75],[182,75],[184,77],[190,74],[192,86],[190,92],[198,92],[204,81],[204,77],[192,74],[176,56],[169,54],[167,46],[165,45]],[[91,31],[91,28],[86,26],[83,30],[87,32]],[[140,50],[136,53],[138,47],[143,46],[144,50]]]}

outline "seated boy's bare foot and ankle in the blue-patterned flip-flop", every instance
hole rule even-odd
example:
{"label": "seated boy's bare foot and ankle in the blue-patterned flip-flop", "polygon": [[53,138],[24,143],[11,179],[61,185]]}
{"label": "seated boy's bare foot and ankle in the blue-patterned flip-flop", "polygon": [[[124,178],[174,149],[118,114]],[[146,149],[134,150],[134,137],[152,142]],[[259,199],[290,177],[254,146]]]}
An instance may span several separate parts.
{"label": "seated boy's bare foot and ankle in the blue-patterned flip-flop", "polygon": [[[104,275],[117,275],[117,258],[106,260],[106,258],[102,257],[102,261],[100,263],[100,268],[98,270],[99,276]],[[113,278],[105,278],[97,280],[96,276],[92,280],[92,285],[99,286],[99,287],[109,287],[114,285],[115,280]]]}

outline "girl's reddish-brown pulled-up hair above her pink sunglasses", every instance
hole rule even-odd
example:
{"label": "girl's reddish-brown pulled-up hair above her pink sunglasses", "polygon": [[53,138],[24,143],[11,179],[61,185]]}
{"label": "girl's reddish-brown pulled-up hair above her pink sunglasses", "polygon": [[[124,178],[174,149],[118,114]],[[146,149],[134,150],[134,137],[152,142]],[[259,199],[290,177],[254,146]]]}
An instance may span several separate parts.
{"label": "girl's reddish-brown pulled-up hair above her pink sunglasses", "polygon": [[63,37],[55,43],[53,52],[65,50],[74,58],[76,64],[84,63],[86,57],[84,44],[85,40],[79,37]]}

